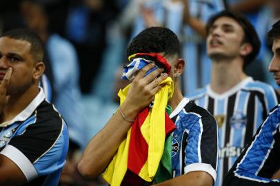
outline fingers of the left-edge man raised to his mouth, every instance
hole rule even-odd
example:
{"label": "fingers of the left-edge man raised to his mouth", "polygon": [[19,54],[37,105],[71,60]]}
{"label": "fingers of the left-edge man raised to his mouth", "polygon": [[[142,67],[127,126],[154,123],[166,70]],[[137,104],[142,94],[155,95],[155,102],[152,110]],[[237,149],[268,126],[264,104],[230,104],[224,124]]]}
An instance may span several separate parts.
{"label": "fingers of the left-edge man raised to his mouth", "polygon": [[0,83],[0,113],[9,101],[10,96],[7,96],[7,90],[10,85],[10,78],[12,75],[12,68],[8,68],[2,82]]}

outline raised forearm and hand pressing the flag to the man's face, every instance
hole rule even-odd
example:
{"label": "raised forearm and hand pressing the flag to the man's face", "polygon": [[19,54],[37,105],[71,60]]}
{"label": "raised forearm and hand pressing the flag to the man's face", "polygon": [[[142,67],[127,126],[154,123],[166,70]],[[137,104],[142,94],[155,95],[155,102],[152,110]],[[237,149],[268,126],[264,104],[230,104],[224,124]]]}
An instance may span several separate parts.
{"label": "raised forearm and hand pressing the flag to the man's face", "polygon": [[[123,114],[130,120],[133,120],[144,107],[150,104],[154,95],[163,87],[159,83],[167,78],[167,74],[161,74],[163,70],[160,68],[145,76],[153,67],[154,64],[151,63],[139,71],[132,81],[126,101],[121,105]],[[118,110],[106,126],[88,143],[78,165],[79,172],[87,178],[97,178],[117,152],[131,125],[132,122],[124,120]]]}

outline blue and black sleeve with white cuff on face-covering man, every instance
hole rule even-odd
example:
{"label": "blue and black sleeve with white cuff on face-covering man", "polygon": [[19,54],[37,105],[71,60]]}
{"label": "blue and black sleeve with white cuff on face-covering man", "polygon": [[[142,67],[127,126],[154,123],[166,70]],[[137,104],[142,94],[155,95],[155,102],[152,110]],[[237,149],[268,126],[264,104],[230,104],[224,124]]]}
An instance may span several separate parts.
{"label": "blue and black sleeve with white cuff on face-covering man", "polygon": [[185,173],[203,171],[216,180],[218,134],[217,123],[212,116],[201,116],[195,121],[188,134],[185,152]]}

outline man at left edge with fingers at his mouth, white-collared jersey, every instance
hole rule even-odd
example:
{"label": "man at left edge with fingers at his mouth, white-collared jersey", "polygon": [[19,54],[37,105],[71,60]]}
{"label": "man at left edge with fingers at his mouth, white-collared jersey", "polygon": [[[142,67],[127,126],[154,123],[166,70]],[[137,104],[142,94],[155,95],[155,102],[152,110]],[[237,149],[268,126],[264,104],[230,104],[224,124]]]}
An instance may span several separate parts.
{"label": "man at left edge with fingers at his mouth, white-collared jersey", "polygon": [[68,131],[45,100],[43,43],[26,29],[0,37],[0,185],[58,185]]}

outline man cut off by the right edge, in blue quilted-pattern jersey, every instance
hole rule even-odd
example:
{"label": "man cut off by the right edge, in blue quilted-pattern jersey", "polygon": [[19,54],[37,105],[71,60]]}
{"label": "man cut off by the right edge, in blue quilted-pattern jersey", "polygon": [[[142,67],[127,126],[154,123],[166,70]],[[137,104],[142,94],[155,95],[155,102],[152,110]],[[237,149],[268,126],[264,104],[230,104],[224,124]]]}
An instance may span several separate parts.
{"label": "man cut off by the right edge, in blue quilted-pattern jersey", "polygon": [[[280,21],[272,25],[268,37],[274,54],[269,70],[280,85]],[[280,185],[280,104],[261,124],[250,144],[235,161],[223,185]]]}

